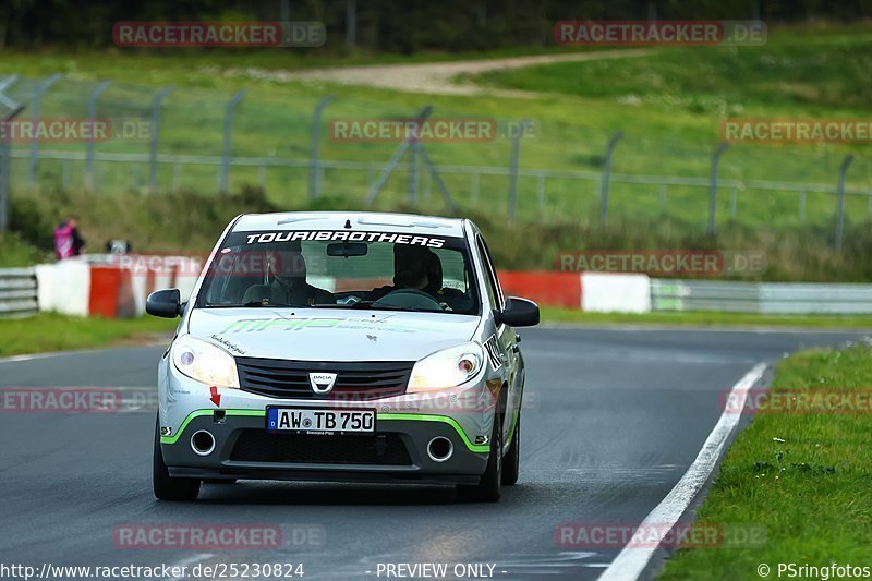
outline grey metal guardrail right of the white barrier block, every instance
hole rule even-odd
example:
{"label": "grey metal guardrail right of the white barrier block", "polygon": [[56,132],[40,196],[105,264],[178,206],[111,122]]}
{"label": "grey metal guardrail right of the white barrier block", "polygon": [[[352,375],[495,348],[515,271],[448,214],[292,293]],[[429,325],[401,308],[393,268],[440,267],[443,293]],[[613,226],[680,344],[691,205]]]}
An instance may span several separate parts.
{"label": "grey metal guardrail right of the white barrier block", "polygon": [[653,311],[872,314],[872,285],[651,280]]}

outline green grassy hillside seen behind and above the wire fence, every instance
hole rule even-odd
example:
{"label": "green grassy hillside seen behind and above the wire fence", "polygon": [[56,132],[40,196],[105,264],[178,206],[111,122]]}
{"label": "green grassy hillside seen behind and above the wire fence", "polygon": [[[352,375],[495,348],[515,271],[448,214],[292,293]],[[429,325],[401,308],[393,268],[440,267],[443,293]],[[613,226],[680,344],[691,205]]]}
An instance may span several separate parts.
{"label": "green grassy hillside seen behind and above the wire fence", "polygon": [[[494,117],[499,120],[529,118],[538,122],[540,136],[524,140],[522,169],[558,171],[602,170],[605,144],[615,131],[625,132],[616,149],[614,171],[629,174],[676,174],[706,179],[712,150],[717,143],[719,121],[725,116],[829,116],[858,117],[869,101],[862,80],[872,65],[870,34],[859,27],[835,31],[773,31],[762,48],[654,49],[647,57],[602,62],[560,64],[510,71],[488,77],[506,87],[536,90],[530,98],[497,94],[427,96],[365,87],[299,83],[264,75],[258,70],[296,68],[298,57],[287,61],[276,55],[206,56],[184,53],[72,53],[4,55],[3,72],[36,77],[52,71],[68,73],[43,104],[45,117],[81,116],[86,96],[102,78],[114,83],[100,97],[99,111],[114,119],[147,114],[159,86],[174,84],[167,98],[160,134],[161,153],[220,156],[226,100],[237,90],[247,94],[235,112],[233,155],[266,159],[305,159],[308,156],[311,112],[317,100],[335,94],[325,110],[331,119],[409,116],[424,105],[434,106],[434,117]],[[428,58],[428,57],[425,57]],[[257,64],[252,64],[257,63]],[[283,63],[283,64],[282,64]],[[247,72],[245,72],[247,69]],[[241,76],[240,76],[241,75]],[[22,81],[11,89],[27,98],[35,83]],[[794,87],[794,88],[791,88]],[[17,93],[16,93],[17,92]],[[632,98],[629,98],[632,97]],[[26,146],[19,146],[26,150]],[[47,144],[44,149],[81,150],[76,144]],[[343,161],[386,162],[393,144],[334,142],[326,129],[322,158]],[[493,143],[443,143],[427,146],[437,166],[483,165],[507,168],[511,157],[509,140]],[[147,153],[145,142],[110,141],[98,150]],[[848,152],[861,157],[849,172],[849,186],[872,185],[872,162],[862,157],[869,146],[750,146],[736,145],[724,155],[720,175],[835,184],[838,167]],[[34,195],[57,187],[62,166],[47,160],[38,168]],[[101,168],[101,191],[144,192],[147,167],[107,162]],[[70,165],[70,183],[81,186],[84,164]],[[264,170],[269,198],[282,206],[306,201],[306,168]],[[177,180],[178,177],[178,180]],[[464,209],[507,211],[509,181],[504,175],[483,175],[477,195],[472,179],[444,173],[445,182]],[[325,170],[324,193],[349,204],[361,204],[375,173]],[[26,164],[13,162],[17,195],[26,195]],[[238,167],[231,172],[232,190],[258,184],[257,167]],[[405,198],[409,175],[398,171],[380,197],[389,203]],[[160,166],[161,191],[175,189],[213,193],[217,185],[214,166]],[[544,184],[544,206],[538,207],[537,180],[520,179],[518,215],[541,221],[572,218],[593,221],[598,216],[598,185],[595,181],[549,178]],[[666,205],[661,205],[658,186],[613,181],[611,219],[677,220],[689,228],[703,228],[707,216],[707,189],[669,186]],[[737,220],[753,228],[792,228],[799,223],[799,197],[790,192],[738,191]],[[730,192],[722,189],[717,203],[718,223],[729,221]],[[420,204],[424,211],[443,208],[438,190],[421,177]],[[865,199],[849,196],[848,220],[862,222],[868,216]],[[832,226],[835,199],[831,194],[809,192],[807,222]]]}

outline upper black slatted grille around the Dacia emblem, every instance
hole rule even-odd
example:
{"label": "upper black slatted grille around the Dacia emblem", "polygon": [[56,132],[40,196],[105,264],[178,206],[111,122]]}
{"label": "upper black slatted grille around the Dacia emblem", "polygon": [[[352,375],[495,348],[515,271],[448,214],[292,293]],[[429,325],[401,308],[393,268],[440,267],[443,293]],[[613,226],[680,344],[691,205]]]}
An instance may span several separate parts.
{"label": "upper black slatted grille around the Dacia emblem", "polygon": [[[405,394],[413,362],[312,362],[237,358],[240,388],[271,398],[365,401]],[[315,394],[310,373],[336,373],[329,394]]]}

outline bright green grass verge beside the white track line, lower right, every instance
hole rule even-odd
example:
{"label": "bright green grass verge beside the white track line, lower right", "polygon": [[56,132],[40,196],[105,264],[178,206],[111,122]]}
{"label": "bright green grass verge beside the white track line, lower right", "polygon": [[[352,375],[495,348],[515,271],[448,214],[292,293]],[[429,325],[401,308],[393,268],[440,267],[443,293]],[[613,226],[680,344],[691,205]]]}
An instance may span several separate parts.
{"label": "bright green grass verge beside the white track line, lower right", "polygon": [[[778,365],[773,389],[869,389],[870,384],[872,350],[863,344],[794,354]],[[870,434],[868,413],[758,415],[727,452],[697,519],[763,524],[765,545],[682,550],[661,578],[760,579],[761,562],[772,568],[772,578],[778,562],[869,566]]]}

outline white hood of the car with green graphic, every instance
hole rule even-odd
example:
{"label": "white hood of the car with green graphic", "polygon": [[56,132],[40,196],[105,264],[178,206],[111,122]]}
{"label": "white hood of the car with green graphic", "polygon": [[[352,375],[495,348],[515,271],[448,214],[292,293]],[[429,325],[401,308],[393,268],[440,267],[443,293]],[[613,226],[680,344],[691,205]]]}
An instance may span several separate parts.
{"label": "white hood of the car with green graphic", "polygon": [[195,308],[189,332],[234,356],[417,361],[469,341],[479,317],[347,308]]}

